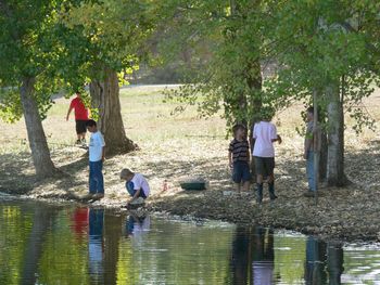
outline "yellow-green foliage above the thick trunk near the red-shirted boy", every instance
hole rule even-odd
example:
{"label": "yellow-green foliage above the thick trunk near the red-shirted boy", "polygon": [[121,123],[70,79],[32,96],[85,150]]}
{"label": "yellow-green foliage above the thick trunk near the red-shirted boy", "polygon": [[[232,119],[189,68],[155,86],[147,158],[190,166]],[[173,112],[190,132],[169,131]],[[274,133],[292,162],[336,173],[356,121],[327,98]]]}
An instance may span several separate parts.
{"label": "yellow-green foliage above the thick trunk near the red-shirted boy", "polygon": [[103,66],[119,73],[121,85],[127,83],[125,75],[138,69],[140,59],[147,55],[141,41],[151,28],[148,4],[149,1],[83,1],[62,13],[62,23],[68,34],[75,35],[75,41],[66,41],[71,51],[66,66],[77,75],[77,79],[65,77],[71,86],[101,80]]}

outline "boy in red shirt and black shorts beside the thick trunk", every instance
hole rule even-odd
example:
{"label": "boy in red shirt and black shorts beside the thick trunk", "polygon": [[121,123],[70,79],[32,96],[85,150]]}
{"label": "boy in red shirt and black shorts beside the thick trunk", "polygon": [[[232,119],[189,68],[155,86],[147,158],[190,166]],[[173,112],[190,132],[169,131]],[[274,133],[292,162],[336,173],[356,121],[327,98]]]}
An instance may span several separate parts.
{"label": "boy in red shirt and black shorts beside the thick trunk", "polygon": [[80,92],[76,92],[76,98],[72,100],[68,111],[67,111],[67,116],[66,120],[68,120],[69,114],[74,109],[75,114],[75,129],[77,133],[77,144],[80,143],[86,143],[86,122],[88,121],[88,109],[86,108],[81,96]]}

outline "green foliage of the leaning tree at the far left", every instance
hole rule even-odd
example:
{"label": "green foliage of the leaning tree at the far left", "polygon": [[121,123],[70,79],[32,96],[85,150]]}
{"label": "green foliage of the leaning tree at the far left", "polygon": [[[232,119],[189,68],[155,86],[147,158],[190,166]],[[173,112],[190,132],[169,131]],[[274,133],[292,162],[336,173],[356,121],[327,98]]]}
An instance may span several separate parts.
{"label": "green foliage of the leaning tree at the far left", "polygon": [[62,88],[58,67],[64,59],[58,11],[68,1],[13,1],[0,3],[0,116],[21,118],[17,95],[24,78],[34,78],[34,96],[41,119],[51,107],[51,94]]}

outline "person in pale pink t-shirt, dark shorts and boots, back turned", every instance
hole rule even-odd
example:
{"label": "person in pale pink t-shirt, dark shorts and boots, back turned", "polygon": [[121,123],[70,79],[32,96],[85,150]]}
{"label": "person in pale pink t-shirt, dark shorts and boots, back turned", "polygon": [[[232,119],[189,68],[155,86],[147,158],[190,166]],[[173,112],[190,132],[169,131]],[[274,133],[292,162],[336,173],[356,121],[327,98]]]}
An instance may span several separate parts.
{"label": "person in pale pink t-shirt, dark shorts and boots, back turned", "polygon": [[263,182],[267,178],[269,197],[276,199],[275,194],[275,147],[274,142],[281,143],[281,138],[277,134],[277,128],[270,122],[274,112],[269,107],[262,108],[262,120],[256,122],[253,128],[254,148],[252,156],[255,161],[256,182],[257,182],[257,203],[263,200]]}

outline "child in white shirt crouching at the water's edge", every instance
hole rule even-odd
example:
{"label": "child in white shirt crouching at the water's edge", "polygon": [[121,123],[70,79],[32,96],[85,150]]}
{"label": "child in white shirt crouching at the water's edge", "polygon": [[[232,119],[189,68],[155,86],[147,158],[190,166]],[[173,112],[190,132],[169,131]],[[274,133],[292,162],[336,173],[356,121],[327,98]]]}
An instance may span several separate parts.
{"label": "child in white shirt crouching at the water's edge", "polygon": [[129,204],[134,204],[138,199],[144,200],[148,198],[150,194],[150,186],[147,179],[142,174],[135,173],[128,168],[125,168],[121,172],[121,179],[126,181],[125,186],[129,195],[132,197]]}

